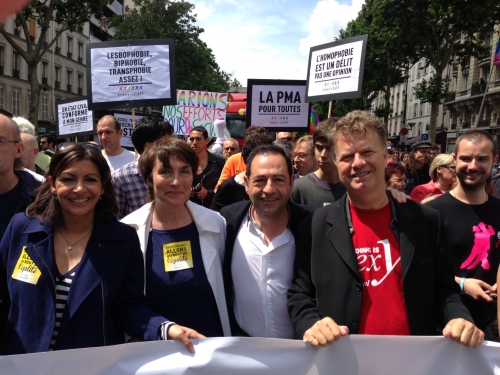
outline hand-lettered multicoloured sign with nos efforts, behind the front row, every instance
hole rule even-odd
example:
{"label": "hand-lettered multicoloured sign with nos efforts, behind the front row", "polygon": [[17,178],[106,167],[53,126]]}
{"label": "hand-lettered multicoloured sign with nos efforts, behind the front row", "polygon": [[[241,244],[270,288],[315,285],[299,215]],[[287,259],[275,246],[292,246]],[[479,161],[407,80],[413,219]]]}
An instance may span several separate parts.
{"label": "hand-lettered multicoloured sign with nos efforts, behind the front row", "polygon": [[189,134],[195,126],[203,126],[215,137],[214,121],[226,118],[226,108],[225,93],[179,89],[176,105],[163,107],[163,117],[174,127],[174,134]]}

